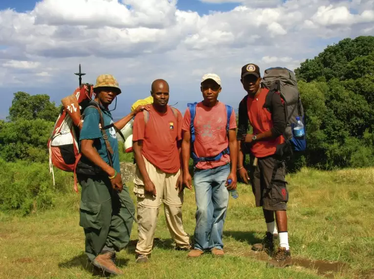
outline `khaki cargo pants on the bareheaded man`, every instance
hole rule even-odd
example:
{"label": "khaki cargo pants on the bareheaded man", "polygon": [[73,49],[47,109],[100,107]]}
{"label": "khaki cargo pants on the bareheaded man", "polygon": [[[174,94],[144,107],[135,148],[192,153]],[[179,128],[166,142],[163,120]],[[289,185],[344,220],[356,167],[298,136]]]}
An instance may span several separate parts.
{"label": "khaki cargo pants on the bareheaded man", "polygon": [[183,191],[178,194],[176,181],[180,171],[175,174],[162,172],[147,159],[144,159],[146,169],[156,188],[156,196],[144,190],[144,183],[139,168],[136,167],[134,178],[134,194],[137,197],[138,237],[136,254],[149,255],[152,253],[154,232],[161,204],[164,204],[166,224],[176,242],[176,246],[186,248],[190,238],[183,229],[182,204]]}

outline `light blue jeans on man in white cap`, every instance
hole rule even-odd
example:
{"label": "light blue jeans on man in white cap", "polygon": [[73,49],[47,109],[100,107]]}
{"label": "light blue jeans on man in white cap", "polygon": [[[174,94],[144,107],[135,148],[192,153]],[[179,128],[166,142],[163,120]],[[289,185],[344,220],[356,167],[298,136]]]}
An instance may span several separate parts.
{"label": "light blue jeans on man in white cap", "polygon": [[225,184],[229,174],[230,164],[212,169],[195,169],[195,249],[223,249],[223,223],[229,200]]}

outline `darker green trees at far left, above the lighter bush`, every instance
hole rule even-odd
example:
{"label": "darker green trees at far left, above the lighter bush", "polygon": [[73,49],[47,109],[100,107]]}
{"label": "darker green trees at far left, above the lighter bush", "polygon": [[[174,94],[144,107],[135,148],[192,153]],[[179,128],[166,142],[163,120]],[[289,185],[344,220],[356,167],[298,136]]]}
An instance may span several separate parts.
{"label": "darker green trees at far left, above the lighter bush", "polygon": [[47,162],[47,141],[59,111],[46,94],[14,93],[10,121],[0,121],[0,157],[7,162]]}

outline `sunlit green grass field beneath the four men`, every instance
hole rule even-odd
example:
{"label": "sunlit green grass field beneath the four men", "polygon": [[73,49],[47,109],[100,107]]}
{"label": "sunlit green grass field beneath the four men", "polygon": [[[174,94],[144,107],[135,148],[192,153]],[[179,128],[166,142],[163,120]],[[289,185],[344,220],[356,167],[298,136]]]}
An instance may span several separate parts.
{"label": "sunlit green grass field beneath the four men", "polygon": [[[323,172],[302,169],[287,176],[290,192],[288,231],[294,265],[266,267],[267,256],[251,252],[266,229],[254,207],[250,186],[239,185],[230,197],[224,227],[224,258],[204,254],[188,259],[173,250],[160,211],[153,256],[135,264],[134,243],[117,254],[123,278],[374,278],[374,169]],[[132,190],[132,184],[128,184]],[[132,192],[131,192],[132,193]],[[132,195],[134,199],[134,196]],[[135,199],[134,199],[135,200]],[[0,215],[0,278],[92,278],[79,227],[79,195],[58,198],[57,206],[28,217]],[[194,192],[185,190],[185,230],[195,227]]]}

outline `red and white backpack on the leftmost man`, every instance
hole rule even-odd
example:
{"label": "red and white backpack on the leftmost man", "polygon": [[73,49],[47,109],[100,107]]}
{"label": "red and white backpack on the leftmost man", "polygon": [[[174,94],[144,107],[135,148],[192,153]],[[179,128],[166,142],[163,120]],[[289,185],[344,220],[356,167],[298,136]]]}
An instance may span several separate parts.
{"label": "red and white backpack on the leftmost man", "polygon": [[[76,183],[76,165],[81,158],[79,151],[79,128],[81,115],[92,100],[93,86],[82,84],[74,93],[62,100],[63,107],[48,140],[49,172],[52,173],[53,185],[55,177],[53,166],[74,172],[74,190],[78,192]],[[102,124],[103,125],[103,124]]]}

